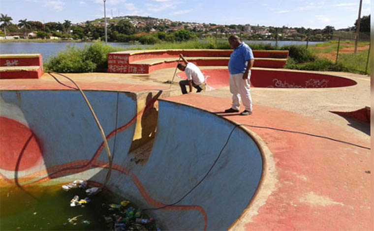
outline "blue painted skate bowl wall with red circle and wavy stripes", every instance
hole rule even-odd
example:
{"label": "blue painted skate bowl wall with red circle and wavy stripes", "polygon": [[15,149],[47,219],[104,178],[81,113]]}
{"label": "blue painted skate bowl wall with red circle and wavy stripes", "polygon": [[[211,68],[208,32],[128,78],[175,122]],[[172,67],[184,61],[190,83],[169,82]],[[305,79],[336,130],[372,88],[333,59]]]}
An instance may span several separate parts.
{"label": "blue painted skate bowl wall with red circle and wavy stripes", "polygon": [[[247,130],[201,109],[156,101],[157,91],[85,93],[113,158],[106,188],[140,208],[160,208],[186,195],[177,204],[148,210],[163,230],[227,230],[248,209],[265,163]],[[104,181],[103,140],[78,91],[2,90],[0,95],[1,187]],[[148,116],[155,108],[157,116]],[[149,151],[134,154],[130,149],[141,141],[139,133],[155,138],[146,143]]]}

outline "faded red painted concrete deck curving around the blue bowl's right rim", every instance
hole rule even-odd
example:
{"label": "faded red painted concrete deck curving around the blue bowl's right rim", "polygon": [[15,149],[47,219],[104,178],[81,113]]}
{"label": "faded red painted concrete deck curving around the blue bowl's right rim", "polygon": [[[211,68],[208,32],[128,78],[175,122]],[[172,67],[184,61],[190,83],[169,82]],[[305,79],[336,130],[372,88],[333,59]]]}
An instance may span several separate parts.
{"label": "faded red painted concrete deck curving around the blue bowl's right rim", "polygon": [[[166,100],[218,114],[231,106],[231,99],[201,94]],[[245,229],[370,230],[371,175],[365,173],[371,169],[370,150],[351,145],[370,144],[336,125],[308,116],[259,105],[253,110],[250,116],[219,114],[240,124],[263,126],[247,128],[263,139],[276,161],[276,190]]]}

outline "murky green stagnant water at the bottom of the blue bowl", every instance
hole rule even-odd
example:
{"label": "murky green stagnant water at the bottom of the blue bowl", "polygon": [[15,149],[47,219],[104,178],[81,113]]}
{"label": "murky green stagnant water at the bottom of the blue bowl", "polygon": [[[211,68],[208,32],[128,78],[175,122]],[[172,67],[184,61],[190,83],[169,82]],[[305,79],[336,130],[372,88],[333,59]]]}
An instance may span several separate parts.
{"label": "murky green stagnant water at the bottom of the blue bowl", "polygon": [[[103,216],[121,214],[121,211],[108,209],[107,205],[126,200],[107,191],[94,196],[87,196],[85,190],[79,188],[63,191],[61,185],[1,187],[0,194],[1,231],[113,230],[114,222],[106,224]],[[91,202],[71,207],[70,200],[75,195],[80,199],[89,197]],[[137,208],[131,202],[126,208],[131,206]],[[69,223],[68,219],[75,216],[78,216],[76,224]],[[142,214],[142,218],[147,217]],[[155,223],[143,226],[132,223],[129,230],[156,230]]]}

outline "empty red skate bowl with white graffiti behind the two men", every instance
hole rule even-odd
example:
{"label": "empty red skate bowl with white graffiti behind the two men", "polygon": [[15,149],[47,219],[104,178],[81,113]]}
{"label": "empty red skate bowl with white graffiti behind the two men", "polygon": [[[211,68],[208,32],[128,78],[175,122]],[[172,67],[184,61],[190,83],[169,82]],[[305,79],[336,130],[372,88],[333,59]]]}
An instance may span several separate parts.
{"label": "empty red skate bowl with white graffiti behind the two men", "polygon": [[[228,69],[203,69],[201,70],[206,90],[213,90],[229,86]],[[181,79],[187,79],[185,72],[178,72]],[[353,80],[343,77],[301,72],[289,70],[271,70],[253,68],[250,76],[251,87],[272,87],[272,88],[322,88],[322,87],[349,87],[356,85]]]}

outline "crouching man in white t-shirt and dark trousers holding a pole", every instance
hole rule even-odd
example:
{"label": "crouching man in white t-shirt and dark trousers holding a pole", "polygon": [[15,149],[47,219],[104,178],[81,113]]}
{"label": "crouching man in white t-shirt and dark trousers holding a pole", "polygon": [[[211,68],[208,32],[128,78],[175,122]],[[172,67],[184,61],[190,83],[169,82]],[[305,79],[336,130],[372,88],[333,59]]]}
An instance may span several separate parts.
{"label": "crouching man in white t-shirt and dark trousers holding a pole", "polygon": [[183,62],[186,64],[183,65],[182,63],[178,63],[177,66],[181,71],[185,71],[187,76],[187,80],[182,80],[179,82],[182,93],[188,93],[186,85],[188,85],[189,87],[189,92],[192,92],[192,87],[195,87],[197,89],[197,92],[202,91],[203,89],[200,87],[200,85],[205,81],[203,73],[201,73],[200,69],[195,64],[193,64],[192,62],[187,62],[182,54],[180,54],[179,57],[182,58]]}

